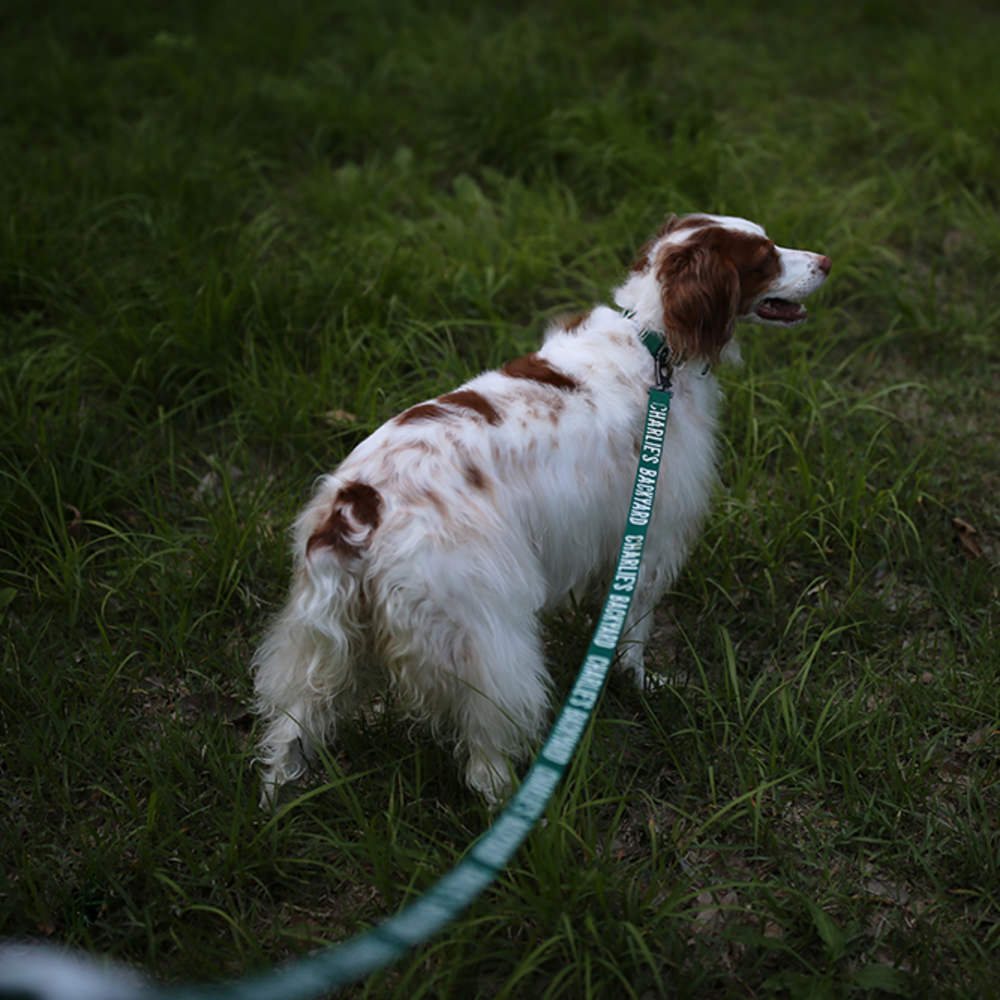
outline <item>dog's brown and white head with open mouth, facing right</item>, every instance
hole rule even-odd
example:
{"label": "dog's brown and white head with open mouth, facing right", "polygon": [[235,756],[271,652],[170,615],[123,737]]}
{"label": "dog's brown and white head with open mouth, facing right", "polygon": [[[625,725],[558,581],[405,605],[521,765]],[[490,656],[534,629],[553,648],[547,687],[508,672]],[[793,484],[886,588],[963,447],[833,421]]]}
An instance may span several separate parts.
{"label": "dog's brown and white head with open mouth, facing right", "polygon": [[615,300],[661,329],[675,351],[715,361],[737,320],[802,323],[802,299],[830,267],[822,254],[776,246],[746,219],[672,217],[640,251]]}

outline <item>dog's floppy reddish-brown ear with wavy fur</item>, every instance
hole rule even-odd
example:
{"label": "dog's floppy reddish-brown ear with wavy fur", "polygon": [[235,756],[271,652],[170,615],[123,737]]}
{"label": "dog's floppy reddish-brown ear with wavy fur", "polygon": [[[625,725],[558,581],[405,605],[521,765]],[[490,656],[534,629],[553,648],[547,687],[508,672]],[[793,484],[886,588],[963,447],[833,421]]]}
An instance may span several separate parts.
{"label": "dog's floppy reddish-brown ear with wavy fur", "polygon": [[736,325],[740,303],[736,265],[694,238],[667,247],[656,276],[670,346],[688,357],[718,361]]}

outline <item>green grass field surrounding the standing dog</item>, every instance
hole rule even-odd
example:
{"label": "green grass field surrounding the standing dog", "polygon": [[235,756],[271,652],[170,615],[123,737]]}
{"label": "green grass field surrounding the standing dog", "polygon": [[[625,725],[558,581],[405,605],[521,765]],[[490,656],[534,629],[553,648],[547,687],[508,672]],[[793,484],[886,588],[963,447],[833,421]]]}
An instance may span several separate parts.
{"label": "green grass field surrounding the standing dog", "polygon": [[391,702],[257,809],[290,519],[704,210],[834,270],[723,376],[671,683],[350,995],[1000,995],[1000,16],[421,6],[0,15],[0,936],[219,979],[455,863],[490,814]]}

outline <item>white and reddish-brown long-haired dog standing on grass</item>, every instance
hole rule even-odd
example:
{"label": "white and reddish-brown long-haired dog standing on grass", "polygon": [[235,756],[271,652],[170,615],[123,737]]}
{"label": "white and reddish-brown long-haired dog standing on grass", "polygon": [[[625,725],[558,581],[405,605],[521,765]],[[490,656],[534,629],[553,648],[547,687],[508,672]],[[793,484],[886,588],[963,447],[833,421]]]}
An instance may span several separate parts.
{"label": "white and reddish-brown long-haired dog standing on grass", "polygon": [[505,797],[549,705],[539,614],[615,565],[654,381],[639,334],[655,330],[673,401],[617,659],[641,685],[653,607],[716,478],[712,366],[738,360],[738,320],[802,323],[830,267],[745,219],[672,216],[617,308],[556,321],[538,351],[404,411],[323,476],[295,522],[288,601],[253,659],[262,804],[380,676],[454,741],[472,789]]}

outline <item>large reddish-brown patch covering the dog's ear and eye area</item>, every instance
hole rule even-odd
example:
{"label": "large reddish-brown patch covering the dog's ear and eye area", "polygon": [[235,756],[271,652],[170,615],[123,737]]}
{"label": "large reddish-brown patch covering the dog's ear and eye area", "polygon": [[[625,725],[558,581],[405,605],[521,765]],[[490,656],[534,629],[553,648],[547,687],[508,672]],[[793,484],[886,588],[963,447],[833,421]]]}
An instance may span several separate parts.
{"label": "large reddish-brown patch covering the dog's ear and eye area", "polygon": [[665,247],[656,277],[671,347],[717,361],[743,315],[780,270],[774,244],[763,236],[706,226]]}

